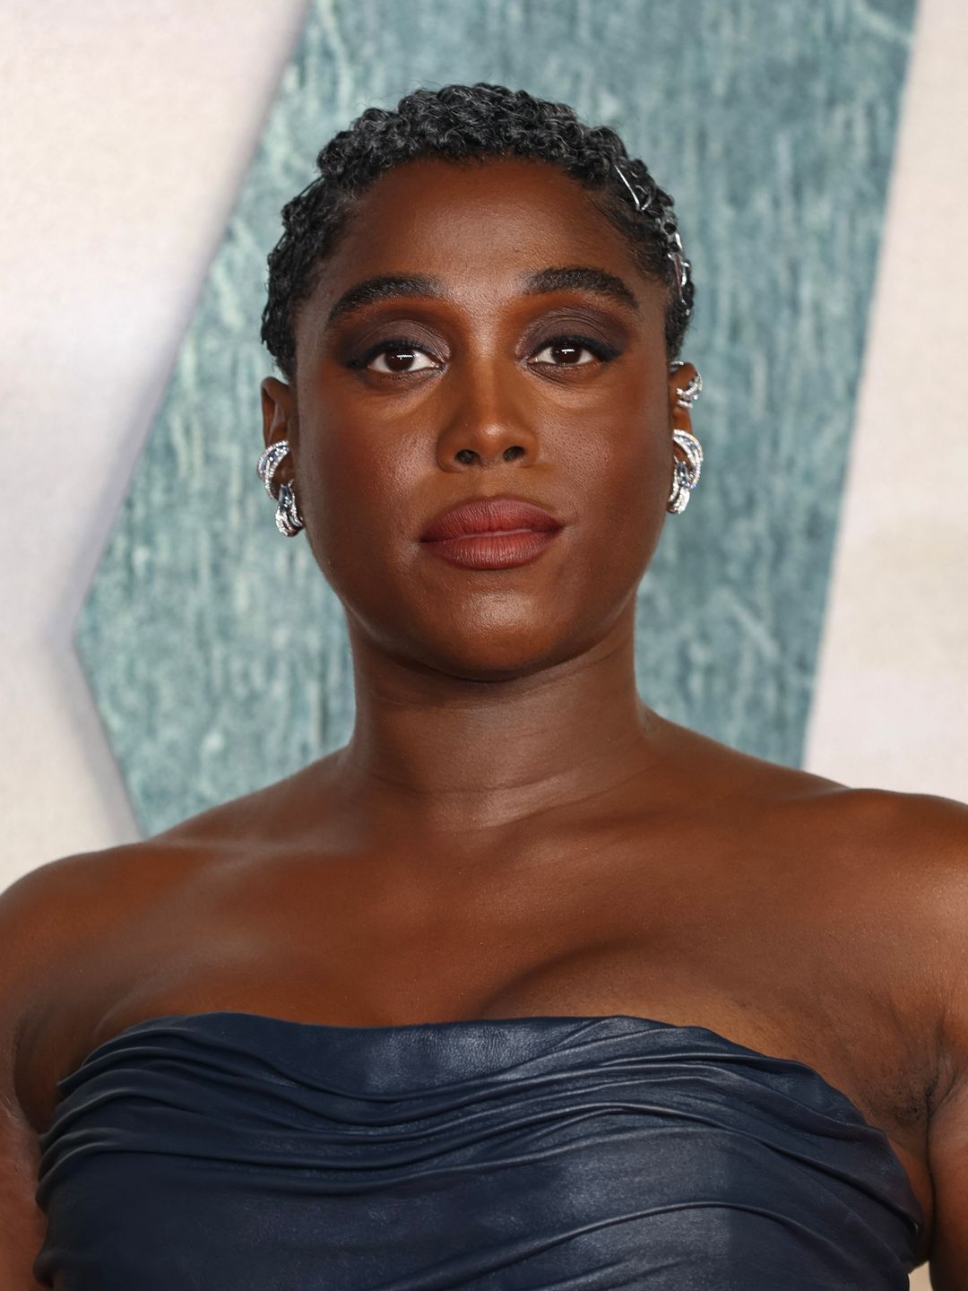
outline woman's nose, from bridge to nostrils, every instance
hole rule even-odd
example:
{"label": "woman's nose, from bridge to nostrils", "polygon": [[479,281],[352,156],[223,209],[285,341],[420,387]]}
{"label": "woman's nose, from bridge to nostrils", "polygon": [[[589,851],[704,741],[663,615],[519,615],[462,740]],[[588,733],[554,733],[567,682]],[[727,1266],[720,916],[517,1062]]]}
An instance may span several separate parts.
{"label": "woman's nose, from bridge to nostrils", "polygon": [[438,465],[453,471],[537,457],[521,382],[511,360],[476,361],[452,387],[453,405],[436,444]]}

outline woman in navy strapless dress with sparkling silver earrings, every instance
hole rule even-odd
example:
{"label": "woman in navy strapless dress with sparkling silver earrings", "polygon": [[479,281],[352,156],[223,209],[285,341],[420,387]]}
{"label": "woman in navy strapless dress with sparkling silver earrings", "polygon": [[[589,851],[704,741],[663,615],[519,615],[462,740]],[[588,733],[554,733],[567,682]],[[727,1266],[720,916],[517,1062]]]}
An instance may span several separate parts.
{"label": "woman in navy strapless dress with sparkling silver earrings", "polygon": [[702,463],[671,200],[487,85],[319,165],[259,474],[352,740],[4,896],[4,1287],[968,1287],[968,809],[636,692]]}

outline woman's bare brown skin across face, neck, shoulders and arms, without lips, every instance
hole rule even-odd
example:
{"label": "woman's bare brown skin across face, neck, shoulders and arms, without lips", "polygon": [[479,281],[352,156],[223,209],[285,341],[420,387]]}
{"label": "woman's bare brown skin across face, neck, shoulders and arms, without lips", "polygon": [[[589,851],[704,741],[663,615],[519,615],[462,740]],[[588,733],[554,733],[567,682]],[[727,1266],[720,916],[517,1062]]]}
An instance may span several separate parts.
{"label": "woman's bare brown skin across face, neck, shoulders and arms, without lips", "polygon": [[[574,266],[635,305],[523,289]],[[414,274],[436,294],[329,323],[359,283]],[[807,1062],[888,1135],[936,1287],[968,1288],[968,808],[750,758],[636,689],[635,590],[693,372],[669,372],[663,290],[542,163],[410,163],[360,200],[298,316],[294,380],[262,387],[266,443],[292,445],[277,478],[346,608],[356,728],[277,785],[4,896],[10,1287],[43,1235],[23,1180],[55,1081],[141,1019],[231,1008],[631,1013]],[[574,334],[608,360],[550,349]],[[563,523],[537,560],[469,571],[421,546],[441,510],[498,494]]]}

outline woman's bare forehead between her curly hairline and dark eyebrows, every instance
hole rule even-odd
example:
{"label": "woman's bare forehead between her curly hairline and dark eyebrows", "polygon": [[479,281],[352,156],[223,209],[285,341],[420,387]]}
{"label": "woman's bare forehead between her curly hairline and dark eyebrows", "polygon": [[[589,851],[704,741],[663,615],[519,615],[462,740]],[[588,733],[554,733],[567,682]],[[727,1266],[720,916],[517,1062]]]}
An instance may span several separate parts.
{"label": "woman's bare forehead between her curly hairline and dark eyebrows", "polygon": [[590,192],[558,167],[427,158],[388,170],[359,199],[323,265],[312,305],[325,309],[354,283],[381,274],[425,274],[503,296],[552,265],[594,266],[632,280],[636,294],[661,292]]}

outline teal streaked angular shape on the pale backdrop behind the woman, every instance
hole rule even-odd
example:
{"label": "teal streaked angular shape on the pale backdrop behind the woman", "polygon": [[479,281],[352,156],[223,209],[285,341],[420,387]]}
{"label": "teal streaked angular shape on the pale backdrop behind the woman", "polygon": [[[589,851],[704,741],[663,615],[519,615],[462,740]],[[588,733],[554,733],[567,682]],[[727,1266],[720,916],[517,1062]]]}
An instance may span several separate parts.
{"label": "teal streaked angular shape on the pale backdrop behind the woman", "polygon": [[254,474],[265,257],[329,136],[488,80],[616,127],[676,209],[706,390],[638,603],[643,697],[800,759],[915,0],[316,0],[77,622],[142,831],[352,728],[342,608]]}

